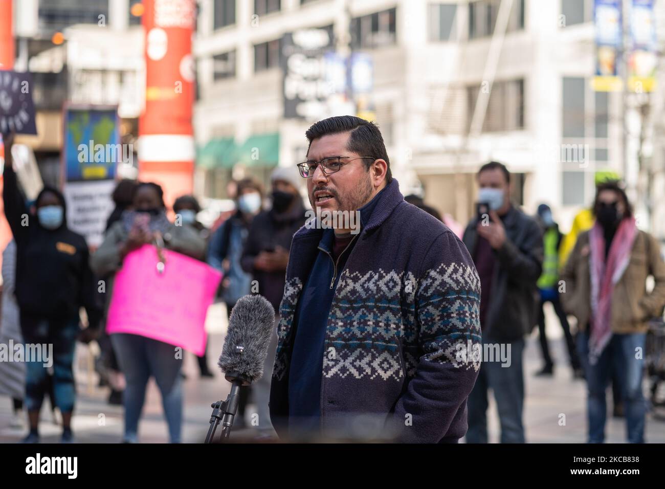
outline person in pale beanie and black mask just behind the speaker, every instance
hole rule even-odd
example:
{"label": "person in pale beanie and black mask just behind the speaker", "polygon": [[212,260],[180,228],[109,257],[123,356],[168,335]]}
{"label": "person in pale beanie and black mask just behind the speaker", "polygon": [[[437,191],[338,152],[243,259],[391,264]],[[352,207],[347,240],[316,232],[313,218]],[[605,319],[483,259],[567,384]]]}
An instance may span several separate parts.
{"label": "person in pale beanie and black mask just behind the speaker", "polygon": [[[241,265],[257,281],[258,291],[279,311],[284,292],[285,272],[289,262],[291,240],[305,224],[305,206],[299,188],[302,178],[295,166],[276,168],[271,175],[273,205],[260,212],[251,222]],[[279,321],[279,315],[275,317]],[[273,434],[268,401],[271,373],[277,349],[277,335],[273,335],[263,365],[263,377],[255,383],[253,395],[259,414],[259,430]]]}

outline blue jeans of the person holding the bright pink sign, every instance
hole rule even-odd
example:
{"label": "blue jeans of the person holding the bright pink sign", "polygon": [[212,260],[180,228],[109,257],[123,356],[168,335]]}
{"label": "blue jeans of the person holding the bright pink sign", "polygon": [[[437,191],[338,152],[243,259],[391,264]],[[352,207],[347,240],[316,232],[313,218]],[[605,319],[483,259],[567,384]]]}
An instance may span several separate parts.
{"label": "blue jeans of the person holding the bright pink sign", "polygon": [[[124,440],[138,441],[138,421],[146,399],[146,385],[155,378],[162,393],[162,405],[172,443],[180,443],[182,425],[182,359],[176,359],[176,347],[138,335],[111,335],[127,387],[123,394]],[[182,356],[182,355],[181,355]]]}

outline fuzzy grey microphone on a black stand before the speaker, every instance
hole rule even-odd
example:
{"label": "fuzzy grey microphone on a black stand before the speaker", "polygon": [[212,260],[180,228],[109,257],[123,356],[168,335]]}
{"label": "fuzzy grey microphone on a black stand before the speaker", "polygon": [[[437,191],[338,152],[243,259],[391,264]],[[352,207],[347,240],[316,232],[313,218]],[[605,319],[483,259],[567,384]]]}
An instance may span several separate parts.
{"label": "fuzzy grey microphone on a black stand before the speaker", "polygon": [[231,383],[226,401],[213,403],[210,428],[205,442],[211,442],[219,422],[221,440],[228,440],[238,409],[240,387],[247,387],[263,377],[263,364],[274,335],[275,309],[262,295],[245,295],[231,311],[229,328],[217,365]]}

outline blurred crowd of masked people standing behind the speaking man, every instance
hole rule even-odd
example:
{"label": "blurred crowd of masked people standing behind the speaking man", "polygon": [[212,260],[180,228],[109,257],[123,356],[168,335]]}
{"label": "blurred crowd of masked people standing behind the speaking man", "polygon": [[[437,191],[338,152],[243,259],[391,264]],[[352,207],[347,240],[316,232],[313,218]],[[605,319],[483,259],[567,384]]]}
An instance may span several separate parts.
{"label": "blurred crowd of masked people standing behind the speaking man", "polygon": [[[11,140],[5,144],[11,148]],[[11,149],[5,154],[11,155]],[[169,212],[160,186],[122,180],[113,193],[115,208],[104,242],[92,253],[68,228],[59,190],[44,188],[34,202],[26,202],[11,156],[4,178],[5,214],[14,239],[3,251],[0,342],[54,345],[51,369],[38,361],[0,363],[0,394],[11,398],[12,424],[24,426],[25,410],[29,432],[24,441],[39,442],[40,412],[48,397],[61,418],[62,441],[72,442],[74,347],[76,341],[96,340],[101,349],[96,365],[100,385],[109,389],[108,403],[124,407],[122,441],[138,442],[146,385],[154,377],[170,441],[180,442],[182,361],[174,358],[173,346],[167,343],[104,332],[114,276],[129,253],[159,240],[166,249],[223,272],[217,300],[225,303],[229,315],[235,302],[249,293],[261,293],[279,311],[291,239],[305,224],[304,180],[296,166],[275,169],[268,194],[253,178],[233,182],[229,189],[235,210],[220,216],[211,228],[199,222],[201,206],[194,196],[180,196]],[[579,212],[565,235],[547,204],[541,204],[535,216],[527,216],[512,203],[511,174],[503,164],[483,165],[477,183],[477,215],[466,227],[447,214],[442,217],[419,196],[405,198],[463,240],[481,281],[483,343],[512,347],[508,367],[481,365],[468,399],[467,442],[487,442],[489,391],[497,403],[501,442],[527,440],[522,359],[525,337],[536,326],[543,367],[535,375],[551,376],[555,369],[545,303],[551,303],[563,329],[571,377],[587,383],[588,441],[604,440],[605,389],[611,384],[614,416],[626,419],[630,442],[644,442],[648,402],[642,381],[648,359],[636,356],[636,351],[654,351],[649,341],[662,336],[665,264],[657,240],[635,226],[618,176],[598,174],[594,202]],[[100,280],[105,283],[103,294],[98,293]],[[575,318],[573,327],[569,317]],[[263,378],[241,390],[235,429],[244,427],[252,402],[259,414],[254,428],[273,436],[268,400],[276,347],[273,335]],[[662,344],[656,353],[662,353]],[[202,377],[211,376],[205,353],[198,365]]]}

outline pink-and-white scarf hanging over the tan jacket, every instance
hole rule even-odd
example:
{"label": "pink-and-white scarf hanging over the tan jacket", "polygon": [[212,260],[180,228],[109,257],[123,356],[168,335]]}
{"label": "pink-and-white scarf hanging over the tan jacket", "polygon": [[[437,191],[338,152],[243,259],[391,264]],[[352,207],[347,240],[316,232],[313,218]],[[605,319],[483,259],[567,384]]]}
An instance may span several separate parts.
{"label": "pink-and-white scarf hanging over the tan jacket", "polygon": [[628,267],[630,250],[637,235],[634,218],[621,220],[605,260],[605,238],[598,222],[589,232],[591,273],[591,335],[589,362],[594,365],[612,339],[612,289]]}

